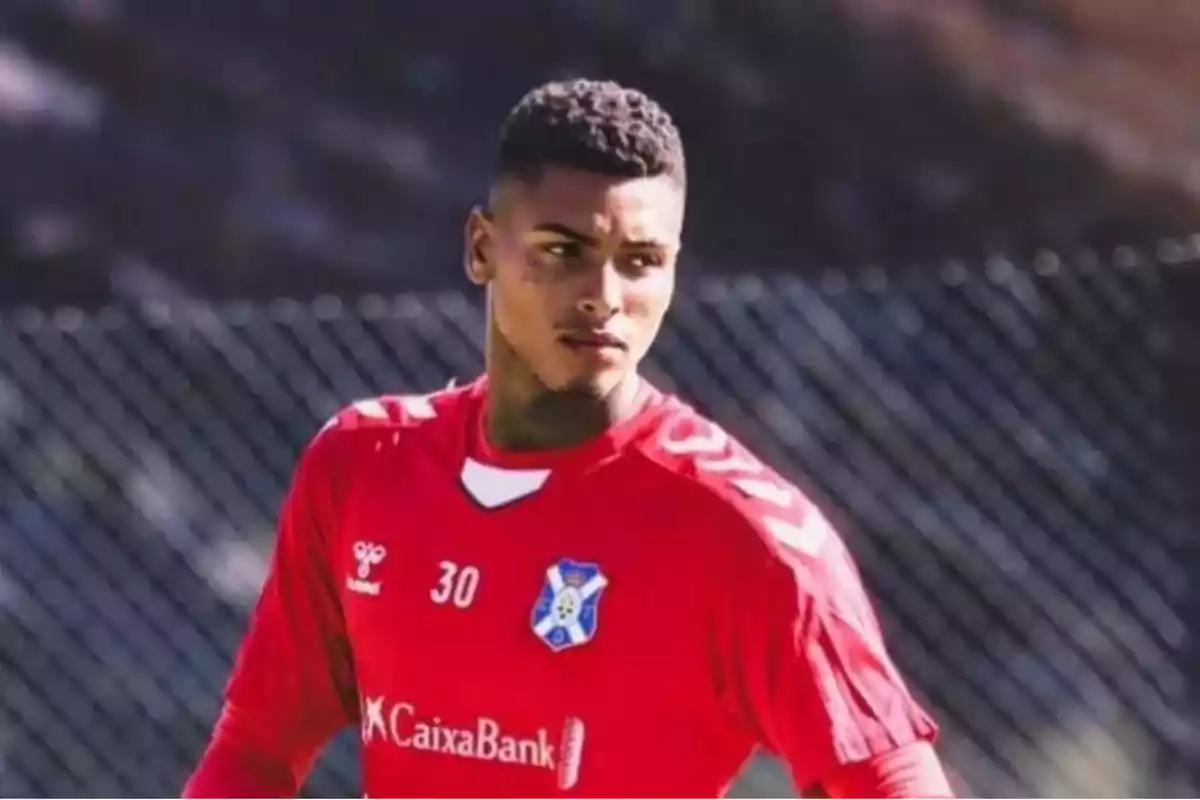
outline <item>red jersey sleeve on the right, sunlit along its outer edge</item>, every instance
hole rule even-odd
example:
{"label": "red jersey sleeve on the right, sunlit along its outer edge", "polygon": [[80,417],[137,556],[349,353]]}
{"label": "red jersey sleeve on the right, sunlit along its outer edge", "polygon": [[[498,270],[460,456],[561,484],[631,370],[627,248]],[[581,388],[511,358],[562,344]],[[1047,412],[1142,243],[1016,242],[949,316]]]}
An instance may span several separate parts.
{"label": "red jersey sleeve on the right, sunlit along its outer edge", "polygon": [[758,494],[767,501],[751,498],[726,523],[745,534],[727,572],[733,705],[798,787],[835,788],[845,768],[931,742],[937,727],[888,655],[836,531],[790,487]]}

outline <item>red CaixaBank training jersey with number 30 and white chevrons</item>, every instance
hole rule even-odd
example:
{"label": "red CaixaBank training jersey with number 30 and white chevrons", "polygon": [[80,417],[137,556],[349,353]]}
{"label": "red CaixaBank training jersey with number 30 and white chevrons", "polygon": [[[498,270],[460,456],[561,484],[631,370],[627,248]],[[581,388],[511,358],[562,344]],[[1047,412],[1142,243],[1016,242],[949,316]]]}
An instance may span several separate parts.
{"label": "red CaixaBank training jersey with number 30 and white chevrons", "polygon": [[290,789],[350,724],[372,796],[713,796],[756,746],[804,787],[934,738],[838,535],[724,431],[647,389],[511,455],[486,393],[355,403],[301,457],[221,723]]}

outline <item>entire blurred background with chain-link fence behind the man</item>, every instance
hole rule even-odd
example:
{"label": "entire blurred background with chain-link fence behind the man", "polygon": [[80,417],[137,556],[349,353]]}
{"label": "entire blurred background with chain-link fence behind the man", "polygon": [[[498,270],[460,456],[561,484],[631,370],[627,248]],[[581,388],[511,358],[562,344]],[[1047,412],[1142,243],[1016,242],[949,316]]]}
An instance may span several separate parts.
{"label": "entire blurred background with chain-link fence behind the man", "polygon": [[959,792],[1195,795],[1198,41],[1195,0],[4,0],[0,795],[178,794],[299,449],[478,372],[461,225],[575,74],[689,148],[649,373],[840,523]]}

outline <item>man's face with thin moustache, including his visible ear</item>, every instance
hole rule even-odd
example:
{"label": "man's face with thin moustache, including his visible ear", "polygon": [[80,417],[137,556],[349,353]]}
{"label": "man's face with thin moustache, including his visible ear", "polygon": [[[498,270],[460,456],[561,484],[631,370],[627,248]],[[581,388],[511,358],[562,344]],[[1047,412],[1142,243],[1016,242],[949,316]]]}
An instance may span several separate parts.
{"label": "man's face with thin moustache, including his visible ear", "polygon": [[668,176],[548,168],[468,223],[492,325],[548,389],[606,395],[649,350],[674,290],[684,191]]}

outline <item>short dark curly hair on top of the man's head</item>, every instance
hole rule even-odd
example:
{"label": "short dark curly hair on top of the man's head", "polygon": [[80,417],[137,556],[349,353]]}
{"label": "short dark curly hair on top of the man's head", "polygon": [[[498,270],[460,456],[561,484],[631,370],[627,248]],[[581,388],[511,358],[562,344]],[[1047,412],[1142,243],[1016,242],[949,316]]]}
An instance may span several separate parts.
{"label": "short dark curly hair on top of the man's head", "polygon": [[530,90],[500,128],[500,176],[536,178],[568,167],[614,178],[668,175],[686,184],[683,140],[671,115],[611,80],[556,80]]}

